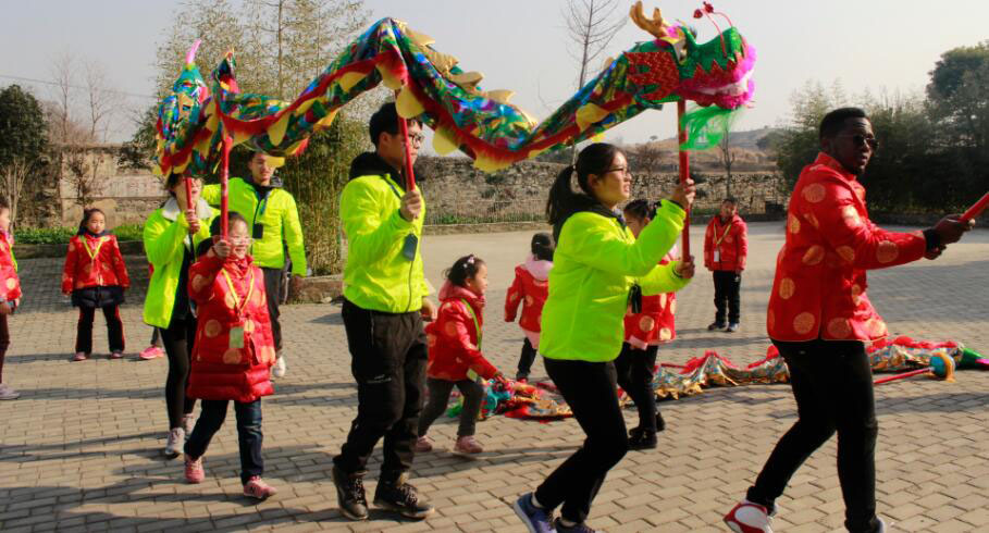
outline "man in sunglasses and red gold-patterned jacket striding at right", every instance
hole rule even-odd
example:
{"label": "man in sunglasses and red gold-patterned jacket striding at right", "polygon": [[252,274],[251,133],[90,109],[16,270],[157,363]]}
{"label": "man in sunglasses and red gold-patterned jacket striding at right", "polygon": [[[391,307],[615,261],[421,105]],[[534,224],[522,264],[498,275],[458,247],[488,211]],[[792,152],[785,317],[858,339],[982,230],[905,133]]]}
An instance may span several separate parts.
{"label": "man in sunglasses and red gold-patterned jacket striding at right", "polygon": [[865,343],[888,335],[866,297],[866,271],[935,259],[972,224],[959,215],[910,233],[869,221],[858,177],[878,147],[865,112],[841,108],[820,123],[820,153],[790,197],[766,326],[790,370],[798,420],[744,500],[726,517],[738,532],[771,531],[769,517],[796,469],[838,433],[844,525],[885,531],[876,516],[878,423]]}

